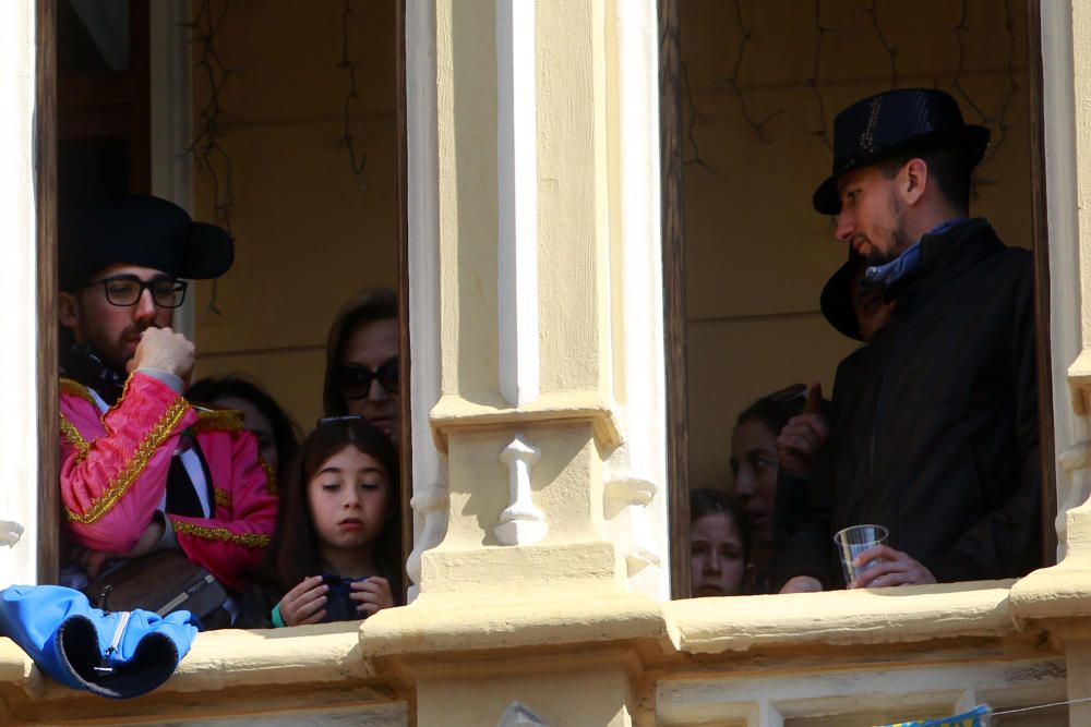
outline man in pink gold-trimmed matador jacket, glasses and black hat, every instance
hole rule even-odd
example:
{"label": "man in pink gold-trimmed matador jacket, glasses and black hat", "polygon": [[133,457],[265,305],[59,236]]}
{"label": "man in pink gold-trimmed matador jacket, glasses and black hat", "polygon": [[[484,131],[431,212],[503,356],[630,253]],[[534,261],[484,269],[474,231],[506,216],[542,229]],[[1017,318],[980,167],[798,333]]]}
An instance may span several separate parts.
{"label": "man in pink gold-trimmed matador jacket, glasses and black hat", "polygon": [[107,557],[177,548],[240,589],[268,542],[256,441],[237,413],[182,398],[193,344],[169,327],[182,278],[219,277],[232,257],[224,230],[156,197],[61,217],[61,500],[92,578]]}

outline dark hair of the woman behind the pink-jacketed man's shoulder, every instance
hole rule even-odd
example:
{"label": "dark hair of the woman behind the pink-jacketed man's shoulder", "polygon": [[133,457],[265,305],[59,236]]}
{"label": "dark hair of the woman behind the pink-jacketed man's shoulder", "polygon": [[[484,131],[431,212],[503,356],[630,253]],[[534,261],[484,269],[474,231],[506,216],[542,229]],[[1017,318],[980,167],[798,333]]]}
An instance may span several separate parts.
{"label": "dark hair of the woman behind the pink-jacketed man's shoulder", "polygon": [[261,386],[239,375],[203,378],[185,392],[185,398],[219,409],[242,412],[244,426],[257,438],[257,450],[272,489],[284,480],[285,471],[299,449],[299,425]]}

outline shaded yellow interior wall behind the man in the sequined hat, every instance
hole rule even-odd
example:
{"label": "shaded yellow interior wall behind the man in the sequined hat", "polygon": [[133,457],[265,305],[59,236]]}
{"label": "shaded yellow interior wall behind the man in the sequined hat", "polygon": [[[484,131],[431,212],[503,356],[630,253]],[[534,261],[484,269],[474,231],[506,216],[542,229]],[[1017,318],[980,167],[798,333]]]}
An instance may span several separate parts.
{"label": "shaded yellow interior wall behind the man in the sequined hat", "polygon": [[[981,123],[952,82],[959,64],[956,26],[963,3],[823,0],[819,101],[814,74],[814,4],[796,0],[686,0],[682,57],[685,167],[686,305],[690,376],[691,483],[727,485],[734,417],[759,396],[795,381],[832,384],[838,361],[854,343],[818,313],[818,293],[844,260],[829,218],[811,206],[829,173],[831,154],[814,132],[858,98],[891,85],[890,58],[872,16],[897,49],[899,86],[951,92],[971,123]],[[969,2],[960,85],[988,117],[993,143],[1005,102],[1007,138],[980,175],[988,184],[971,211],[990,218],[1009,244],[1030,245],[1027,119],[1027,9],[1023,2]],[[1010,4],[1015,39],[1005,29]],[[745,121],[726,82],[734,73],[742,34],[751,32],[739,86],[752,118],[769,121],[765,141]],[[1010,99],[1009,99],[1010,96]],[[692,124],[692,126],[691,126]],[[992,153],[990,153],[992,154]]]}

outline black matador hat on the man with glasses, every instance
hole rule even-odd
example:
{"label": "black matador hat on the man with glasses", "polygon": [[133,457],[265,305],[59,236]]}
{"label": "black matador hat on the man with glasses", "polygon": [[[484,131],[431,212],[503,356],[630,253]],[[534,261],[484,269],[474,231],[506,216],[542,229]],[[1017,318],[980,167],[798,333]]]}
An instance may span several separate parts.
{"label": "black matador hat on the man with glasses", "polygon": [[226,230],[194,222],[175,203],[148,195],[67,210],[58,232],[60,288],[67,291],[117,263],[204,280],[224,275],[235,260]]}

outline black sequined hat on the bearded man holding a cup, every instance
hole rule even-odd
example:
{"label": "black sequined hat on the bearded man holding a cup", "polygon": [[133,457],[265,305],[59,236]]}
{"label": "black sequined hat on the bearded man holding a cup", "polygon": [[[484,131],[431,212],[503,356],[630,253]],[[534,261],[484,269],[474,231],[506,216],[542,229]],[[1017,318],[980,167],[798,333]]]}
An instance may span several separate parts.
{"label": "black sequined hat on the bearded man holding a cup", "polygon": [[818,185],[814,206],[823,215],[841,211],[837,178],[900,154],[961,148],[974,167],[985,155],[988,130],[962,121],[950,94],[934,88],[899,88],[856,101],[834,119],[834,169]]}

